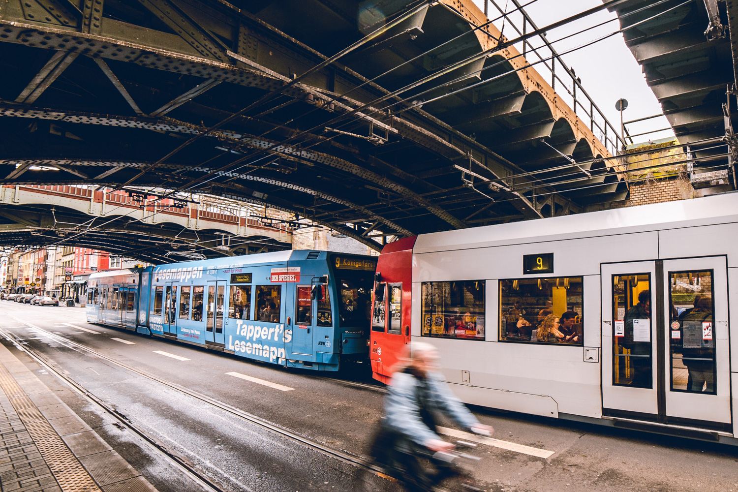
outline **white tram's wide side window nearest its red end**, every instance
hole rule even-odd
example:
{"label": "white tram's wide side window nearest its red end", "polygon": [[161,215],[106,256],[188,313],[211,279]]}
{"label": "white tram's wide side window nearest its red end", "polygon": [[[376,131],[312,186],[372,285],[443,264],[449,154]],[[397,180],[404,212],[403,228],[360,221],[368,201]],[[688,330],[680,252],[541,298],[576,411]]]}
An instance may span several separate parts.
{"label": "white tram's wide side window nearest its red end", "polygon": [[484,286],[484,280],[422,283],[421,336],[483,340]]}

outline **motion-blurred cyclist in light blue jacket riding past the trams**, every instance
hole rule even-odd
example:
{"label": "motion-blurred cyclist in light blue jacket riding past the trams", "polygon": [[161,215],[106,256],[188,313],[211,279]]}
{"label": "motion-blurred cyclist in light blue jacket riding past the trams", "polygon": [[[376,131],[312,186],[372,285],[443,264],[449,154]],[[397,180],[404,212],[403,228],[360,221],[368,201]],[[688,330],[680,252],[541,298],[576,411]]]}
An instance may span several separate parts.
{"label": "motion-blurred cyclist in light blue jacket riding past the trams", "polygon": [[[441,381],[438,350],[431,344],[413,342],[413,352],[392,376],[384,399],[382,427],[373,442],[371,455],[380,465],[390,468],[408,491],[430,491],[432,485],[452,473],[449,463],[438,460],[439,451],[455,446],[436,434],[436,418],[445,414],[459,426],[478,434],[492,434],[494,429],[476,419],[472,412]],[[428,474],[420,457],[435,466]]]}

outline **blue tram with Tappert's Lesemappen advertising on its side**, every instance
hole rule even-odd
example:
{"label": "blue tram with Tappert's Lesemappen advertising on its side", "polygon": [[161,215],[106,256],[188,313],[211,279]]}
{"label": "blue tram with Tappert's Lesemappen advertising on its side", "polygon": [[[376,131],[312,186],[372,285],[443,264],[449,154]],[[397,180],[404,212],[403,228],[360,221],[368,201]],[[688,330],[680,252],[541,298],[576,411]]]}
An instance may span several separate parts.
{"label": "blue tram with Tappert's Lesemappen advertising on its side", "polygon": [[338,370],[368,359],[376,257],[298,250],[105,271],[87,321],[258,361]]}

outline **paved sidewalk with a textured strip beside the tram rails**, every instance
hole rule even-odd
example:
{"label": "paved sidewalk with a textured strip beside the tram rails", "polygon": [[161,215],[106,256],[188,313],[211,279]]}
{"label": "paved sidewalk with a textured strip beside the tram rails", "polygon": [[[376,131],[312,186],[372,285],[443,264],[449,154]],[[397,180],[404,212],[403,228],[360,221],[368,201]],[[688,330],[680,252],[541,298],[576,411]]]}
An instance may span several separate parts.
{"label": "paved sidewalk with a textured strip beside the tram rails", "polygon": [[2,492],[156,492],[0,344]]}

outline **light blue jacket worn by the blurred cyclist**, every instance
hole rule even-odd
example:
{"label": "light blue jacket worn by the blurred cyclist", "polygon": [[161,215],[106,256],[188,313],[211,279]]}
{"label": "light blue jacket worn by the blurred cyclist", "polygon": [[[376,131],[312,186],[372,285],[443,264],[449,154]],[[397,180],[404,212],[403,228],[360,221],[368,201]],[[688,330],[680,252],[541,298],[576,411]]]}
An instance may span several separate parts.
{"label": "light blue jacket worn by the blurred cyclist", "polygon": [[384,426],[388,430],[424,446],[427,440],[439,439],[434,417],[439,412],[465,429],[479,423],[441,381],[441,375],[430,373],[420,378],[404,369],[392,376],[389,393],[384,398]]}

